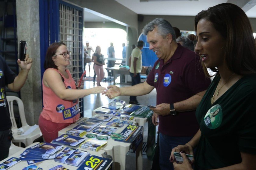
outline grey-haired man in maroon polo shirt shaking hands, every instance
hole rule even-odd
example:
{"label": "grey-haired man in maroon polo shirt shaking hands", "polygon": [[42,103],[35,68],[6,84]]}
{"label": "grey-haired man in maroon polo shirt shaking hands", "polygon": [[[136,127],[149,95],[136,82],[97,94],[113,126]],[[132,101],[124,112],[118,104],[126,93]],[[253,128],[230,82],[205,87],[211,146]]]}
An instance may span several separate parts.
{"label": "grey-haired man in maroon polo shirt shaking hands", "polygon": [[158,57],[147,81],[132,87],[109,86],[106,96],[141,96],[156,88],[157,105],[151,110],[153,124],[158,125],[159,118],[160,169],[173,169],[169,161],[172,148],[186,144],[198,131],[195,109],[210,80],[204,76],[199,56],[176,42],[168,21],[154,19],[143,32]]}

